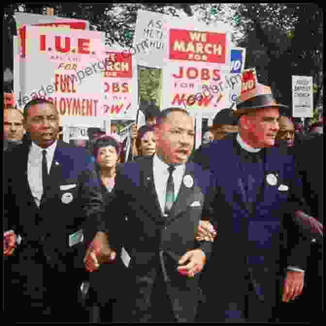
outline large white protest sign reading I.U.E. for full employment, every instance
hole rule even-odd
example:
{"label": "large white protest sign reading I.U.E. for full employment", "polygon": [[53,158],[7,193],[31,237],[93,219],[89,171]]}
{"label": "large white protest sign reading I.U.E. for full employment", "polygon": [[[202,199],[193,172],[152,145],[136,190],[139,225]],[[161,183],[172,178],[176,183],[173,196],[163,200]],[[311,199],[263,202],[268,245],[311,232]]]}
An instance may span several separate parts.
{"label": "large white protest sign reading I.U.E. for full employment", "polygon": [[[98,116],[104,97],[98,56],[105,33],[24,26],[25,57],[20,58],[22,104],[51,100],[59,116]],[[42,73],[37,73],[41,71]],[[36,77],[35,77],[36,76]]]}

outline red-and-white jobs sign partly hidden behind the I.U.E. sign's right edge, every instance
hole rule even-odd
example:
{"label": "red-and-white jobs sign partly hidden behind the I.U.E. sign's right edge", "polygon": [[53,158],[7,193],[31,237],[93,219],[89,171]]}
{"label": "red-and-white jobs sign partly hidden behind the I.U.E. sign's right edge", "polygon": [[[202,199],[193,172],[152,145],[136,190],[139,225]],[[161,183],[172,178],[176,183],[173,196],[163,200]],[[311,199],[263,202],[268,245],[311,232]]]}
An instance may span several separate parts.
{"label": "red-and-white jobs sign partly hidden behind the I.U.E. sign's right edge", "polygon": [[136,119],[138,109],[138,79],[132,55],[119,55],[118,48],[106,48],[101,72],[104,100],[101,115],[115,119]]}

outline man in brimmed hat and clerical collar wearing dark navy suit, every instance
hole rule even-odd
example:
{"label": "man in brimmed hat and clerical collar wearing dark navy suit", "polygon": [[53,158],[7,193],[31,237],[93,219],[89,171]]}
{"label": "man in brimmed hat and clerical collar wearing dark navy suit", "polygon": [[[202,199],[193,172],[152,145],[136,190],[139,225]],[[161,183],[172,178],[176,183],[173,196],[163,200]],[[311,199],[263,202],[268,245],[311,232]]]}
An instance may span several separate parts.
{"label": "man in brimmed hat and clerical collar wearing dark navy suit", "polygon": [[[223,298],[214,316],[267,322],[275,320],[280,293],[288,302],[302,292],[310,243],[293,223],[292,214],[304,209],[293,157],[274,147],[282,105],[261,84],[240,100],[237,136],[213,141],[195,156],[216,179],[215,205],[223,214],[202,282],[208,300]],[[212,318],[206,320],[223,321]]]}

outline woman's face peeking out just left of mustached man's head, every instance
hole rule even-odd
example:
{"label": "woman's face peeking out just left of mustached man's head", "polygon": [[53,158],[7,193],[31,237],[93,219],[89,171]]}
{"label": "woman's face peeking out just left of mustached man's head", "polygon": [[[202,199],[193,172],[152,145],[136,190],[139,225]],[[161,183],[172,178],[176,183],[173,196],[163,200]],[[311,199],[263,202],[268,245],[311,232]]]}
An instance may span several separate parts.
{"label": "woman's face peeking out just left of mustached man's head", "polygon": [[155,154],[156,144],[154,130],[154,125],[146,125],[139,128],[136,138],[137,158],[142,156],[152,156]]}

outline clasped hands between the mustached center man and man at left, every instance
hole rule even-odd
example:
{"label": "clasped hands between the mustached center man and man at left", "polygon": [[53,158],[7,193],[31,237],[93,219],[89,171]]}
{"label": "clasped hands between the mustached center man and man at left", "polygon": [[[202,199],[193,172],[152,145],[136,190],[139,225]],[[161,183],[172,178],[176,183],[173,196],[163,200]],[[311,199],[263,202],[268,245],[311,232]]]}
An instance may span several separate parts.
{"label": "clasped hands between the mustached center man and man at left", "polygon": [[110,248],[106,234],[98,232],[88,249],[84,258],[86,270],[94,272],[98,270],[102,263],[112,262],[116,257],[116,252]]}

